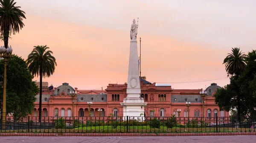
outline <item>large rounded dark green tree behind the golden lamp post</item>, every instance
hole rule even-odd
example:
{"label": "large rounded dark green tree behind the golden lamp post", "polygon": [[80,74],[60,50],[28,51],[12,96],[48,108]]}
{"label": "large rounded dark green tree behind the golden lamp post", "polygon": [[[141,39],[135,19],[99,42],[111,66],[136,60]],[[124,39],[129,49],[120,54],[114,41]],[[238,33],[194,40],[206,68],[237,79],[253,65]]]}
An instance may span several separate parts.
{"label": "large rounded dark green tree behind the golden lamp post", "polygon": [[[3,65],[3,59],[0,60]],[[29,72],[26,62],[17,55],[7,62],[7,87],[6,87],[6,113],[12,113],[15,121],[32,114],[35,107],[35,95],[38,94],[38,87],[32,81],[33,76]],[[0,105],[3,109],[3,70],[0,66]]]}

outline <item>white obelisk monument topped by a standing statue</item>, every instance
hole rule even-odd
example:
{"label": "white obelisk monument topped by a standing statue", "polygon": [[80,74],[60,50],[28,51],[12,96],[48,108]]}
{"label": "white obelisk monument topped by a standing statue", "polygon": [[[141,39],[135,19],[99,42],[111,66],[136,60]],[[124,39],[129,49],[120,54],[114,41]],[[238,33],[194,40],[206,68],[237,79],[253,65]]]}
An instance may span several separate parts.
{"label": "white obelisk monument topped by a standing statue", "polygon": [[139,63],[138,63],[138,49],[137,49],[137,29],[138,22],[133,20],[130,31],[130,56],[129,56],[129,69],[128,69],[128,84],[127,84],[127,97],[124,98],[123,107],[124,116],[144,116],[144,99],[140,97],[140,76],[139,76]]}

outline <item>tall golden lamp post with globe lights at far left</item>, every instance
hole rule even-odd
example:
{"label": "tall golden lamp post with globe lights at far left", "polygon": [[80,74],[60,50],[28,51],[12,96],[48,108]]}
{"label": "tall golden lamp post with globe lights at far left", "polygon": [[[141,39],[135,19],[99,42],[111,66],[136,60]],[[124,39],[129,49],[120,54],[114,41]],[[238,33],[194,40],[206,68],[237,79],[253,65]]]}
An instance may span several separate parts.
{"label": "tall golden lamp post with globe lights at far left", "polygon": [[6,67],[7,67],[7,61],[12,55],[12,46],[10,48],[5,48],[4,46],[0,47],[0,58],[3,58],[4,60],[4,72],[3,72],[3,119],[2,119],[2,127],[5,129],[5,123],[6,123]]}

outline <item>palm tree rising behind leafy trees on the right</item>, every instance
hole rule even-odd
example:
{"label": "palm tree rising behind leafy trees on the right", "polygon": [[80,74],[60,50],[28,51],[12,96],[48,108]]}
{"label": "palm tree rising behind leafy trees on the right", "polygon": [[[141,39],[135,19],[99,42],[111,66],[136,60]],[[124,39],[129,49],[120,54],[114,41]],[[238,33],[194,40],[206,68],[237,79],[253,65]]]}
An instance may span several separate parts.
{"label": "palm tree rising behind leafy trees on the right", "polygon": [[[232,53],[228,53],[228,56],[224,59],[226,71],[229,75],[234,75],[235,79],[241,75],[247,62],[247,55],[241,53],[240,48],[232,48]],[[239,89],[239,88],[238,88]],[[237,93],[237,116],[240,122],[240,94]]]}

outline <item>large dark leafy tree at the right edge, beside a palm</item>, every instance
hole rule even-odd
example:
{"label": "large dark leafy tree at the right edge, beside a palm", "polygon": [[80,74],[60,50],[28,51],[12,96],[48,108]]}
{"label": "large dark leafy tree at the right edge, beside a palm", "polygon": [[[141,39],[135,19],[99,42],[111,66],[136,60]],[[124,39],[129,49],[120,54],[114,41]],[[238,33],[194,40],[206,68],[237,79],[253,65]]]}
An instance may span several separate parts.
{"label": "large dark leafy tree at the right edge, beside a palm", "polygon": [[[248,53],[247,65],[239,77],[231,76],[230,84],[215,93],[215,103],[221,110],[237,109],[237,116],[255,116],[256,111],[256,53]],[[239,95],[239,97],[238,97]],[[238,98],[240,100],[238,100]],[[239,102],[241,104],[239,104]],[[240,106],[240,108],[239,108]],[[240,112],[240,114],[238,113]],[[240,121],[241,118],[238,118]]]}

